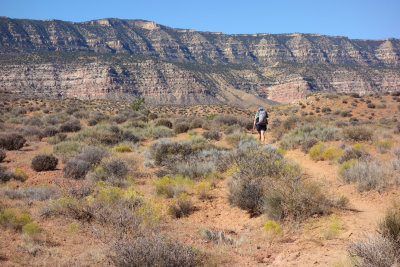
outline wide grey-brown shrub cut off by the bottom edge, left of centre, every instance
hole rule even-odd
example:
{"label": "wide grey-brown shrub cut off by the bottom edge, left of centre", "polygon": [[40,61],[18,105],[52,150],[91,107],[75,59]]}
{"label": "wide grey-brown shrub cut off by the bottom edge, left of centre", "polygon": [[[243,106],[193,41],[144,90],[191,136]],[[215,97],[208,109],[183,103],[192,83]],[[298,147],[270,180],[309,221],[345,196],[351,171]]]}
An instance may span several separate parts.
{"label": "wide grey-brown shrub cut off by the bottom edge, left of centre", "polygon": [[160,234],[116,240],[113,244],[115,266],[200,266],[200,253]]}

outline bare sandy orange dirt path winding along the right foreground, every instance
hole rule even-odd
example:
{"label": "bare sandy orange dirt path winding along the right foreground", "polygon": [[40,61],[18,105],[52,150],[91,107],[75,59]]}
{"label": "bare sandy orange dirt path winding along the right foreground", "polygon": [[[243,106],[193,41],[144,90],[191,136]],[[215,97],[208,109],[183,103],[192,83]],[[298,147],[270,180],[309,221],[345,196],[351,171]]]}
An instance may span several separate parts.
{"label": "bare sandy orange dirt path winding along the right foreground", "polygon": [[[301,237],[283,251],[274,262],[276,266],[333,266],[346,258],[346,247],[353,241],[375,232],[376,226],[398,196],[394,190],[359,193],[354,185],[344,185],[337,175],[337,166],[329,162],[312,161],[299,150],[289,151],[286,157],[298,163],[306,176],[323,184],[329,194],[346,196],[350,207],[359,212],[336,211],[342,225],[336,238],[327,239],[321,235],[329,222],[316,220],[305,226]],[[307,230],[311,228],[311,230]],[[299,265],[299,263],[301,263]]]}

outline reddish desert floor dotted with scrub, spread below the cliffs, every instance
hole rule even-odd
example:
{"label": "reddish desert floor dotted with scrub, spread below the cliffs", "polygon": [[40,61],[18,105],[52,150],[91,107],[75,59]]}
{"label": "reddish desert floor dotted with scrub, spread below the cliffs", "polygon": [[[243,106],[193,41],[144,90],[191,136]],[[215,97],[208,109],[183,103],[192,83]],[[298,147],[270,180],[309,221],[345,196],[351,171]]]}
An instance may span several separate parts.
{"label": "reddish desert floor dotted with scrub, spread below the cliffs", "polygon": [[[72,254],[87,265],[257,265],[278,260],[280,242],[290,251],[307,242],[300,258],[288,258],[301,265],[320,253],[320,242],[332,250],[327,259],[338,255],[348,233],[360,237],[357,227],[376,234],[350,245],[350,264],[398,264],[398,205],[376,231],[364,224],[397,196],[397,96],[318,94],[266,106],[263,145],[251,132],[254,113],[238,107],[132,111],[122,101],[0,94],[0,136],[14,135],[5,143],[20,150],[0,147],[0,226],[10,243],[0,262],[40,265],[51,252],[49,262],[67,265],[76,264],[66,260]],[[29,168],[35,156],[51,153],[62,171]],[[371,190],[378,192],[364,192]],[[368,214],[358,212],[365,206]],[[71,244],[76,252],[62,253]]]}

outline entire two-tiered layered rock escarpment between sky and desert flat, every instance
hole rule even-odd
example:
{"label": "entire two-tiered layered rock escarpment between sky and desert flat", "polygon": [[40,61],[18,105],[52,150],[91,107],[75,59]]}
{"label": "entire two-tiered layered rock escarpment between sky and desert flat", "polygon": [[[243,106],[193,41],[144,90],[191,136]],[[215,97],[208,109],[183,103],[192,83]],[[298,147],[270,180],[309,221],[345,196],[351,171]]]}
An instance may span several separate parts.
{"label": "entire two-tiered layered rock escarpment between sky and desert flat", "polygon": [[142,20],[0,18],[0,89],[154,104],[291,102],[400,91],[400,40],[225,35]]}

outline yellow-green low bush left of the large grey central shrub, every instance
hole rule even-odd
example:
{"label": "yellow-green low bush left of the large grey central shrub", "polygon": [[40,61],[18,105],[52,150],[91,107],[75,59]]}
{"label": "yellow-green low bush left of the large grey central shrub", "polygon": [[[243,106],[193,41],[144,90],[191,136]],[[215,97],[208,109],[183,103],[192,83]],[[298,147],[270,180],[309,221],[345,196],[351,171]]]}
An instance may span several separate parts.
{"label": "yellow-green low bush left of the large grey central shrub", "polygon": [[174,175],[155,179],[153,184],[156,186],[157,194],[171,198],[186,192],[193,182],[183,175]]}

